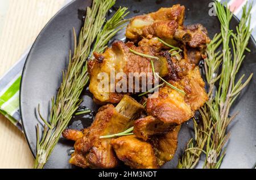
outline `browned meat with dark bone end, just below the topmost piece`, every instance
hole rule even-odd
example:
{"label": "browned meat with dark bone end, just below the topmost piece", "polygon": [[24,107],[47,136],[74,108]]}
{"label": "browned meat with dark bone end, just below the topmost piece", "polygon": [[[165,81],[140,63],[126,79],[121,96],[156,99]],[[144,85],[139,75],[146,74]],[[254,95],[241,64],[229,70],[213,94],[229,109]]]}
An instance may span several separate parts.
{"label": "browned meat with dark bone end, just below the topmost piece", "polygon": [[185,53],[187,53],[191,63],[197,64],[204,56],[210,38],[208,37],[207,29],[203,25],[193,24],[183,28],[175,25],[175,23],[158,22],[155,26],[151,25],[144,28],[143,38],[138,43],[139,46],[151,46],[158,52],[170,49],[158,40],[157,37],[160,37],[173,46],[182,46],[177,41],[187,45],[188,47],[184,47],[184,52],[187,50]]}

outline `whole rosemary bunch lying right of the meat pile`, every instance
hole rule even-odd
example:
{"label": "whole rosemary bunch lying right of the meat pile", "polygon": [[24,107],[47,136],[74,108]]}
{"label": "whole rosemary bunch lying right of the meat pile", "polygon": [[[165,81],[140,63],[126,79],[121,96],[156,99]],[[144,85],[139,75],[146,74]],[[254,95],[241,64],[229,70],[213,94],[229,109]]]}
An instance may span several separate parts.
{"label": "whole rosemary bunch lying right of the meat pile", "polygon": [[[215,2],[217,16],[221,22],[221,33],[213,38],[208,45],[205,60],[205,74],[209,86],[209,101],[201,108],[201,122],[194,121],[195,139],[191,139],[187,145],[183,157],[179,161],[178,168],[195,168],[200,159],[200,154],[205,149],[207,158],[205,159],[204,168],[220,168],[221,162],[225,155],[224,145],[229,139],[229,133],[226,130],[229,123],[234,119],[236,114],[229,117],[229,110],[234,100],[240,94],[242,89],[250,82],[252,74],[242,83],[242,78],[236,82],[236,75],[241,63],[245,57],[244,52],[251,35],[250,30],[250,11],[251,5],[243,7],[243,14],[237,32],[234,33],[229,29],[229,23],[232,19],[232,13]],[[220,39],[221,38],[221,39]],[[229,42],[232,42],[233,56],[229,48]],[[222,44],[222,53],[216,50]],[[218,69],[222,63],[221,73]],[[219,88],[214,96],[214,84],[220,80]],[[213,157],[217,162],[212,161]]]}

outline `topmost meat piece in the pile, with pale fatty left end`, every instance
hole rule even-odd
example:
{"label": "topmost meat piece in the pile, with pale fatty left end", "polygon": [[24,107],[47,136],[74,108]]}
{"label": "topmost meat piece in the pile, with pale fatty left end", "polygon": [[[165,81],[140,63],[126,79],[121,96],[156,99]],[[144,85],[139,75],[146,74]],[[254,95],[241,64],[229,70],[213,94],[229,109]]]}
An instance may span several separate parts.
{"label": "topmost meat piece in the pile, with pale fatty left end", "polygon": [[137,42],[143,36],[145,27],[149,27],[157,22],[170,21],[176,22],[177,25],[182,25],[184,16],[185,7],[180,5],[174,5],[170,8],[160,8],[160,10],[150,14],[135,16],[127,26],[126,37]]}

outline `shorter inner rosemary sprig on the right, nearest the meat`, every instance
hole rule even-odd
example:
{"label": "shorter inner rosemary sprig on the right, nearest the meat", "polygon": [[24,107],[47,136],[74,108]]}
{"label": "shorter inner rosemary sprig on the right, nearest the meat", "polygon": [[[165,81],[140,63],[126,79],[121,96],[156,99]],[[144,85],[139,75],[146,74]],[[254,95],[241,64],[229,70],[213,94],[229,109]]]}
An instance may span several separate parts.
{"label": "shorter inner rosemary sprig on the right, nearest the meat", "polygon": [[[222,42],[221,34],[213,37],[213,40],[210,44],[207,45],[207,55],[208,57],[205,59],[205,74],[209,87],[208,97],[209,102],[213,97],[213,88],[214,83],[220,79],[220,76],[217,76],[218,69],[221,63],[222,54],[217,52],[218,48],[220,48],[220,44]],[[211,123],[212,119],[209,115],[209,108],[207,105],[204,105],[203,108],[199,110],[201,114],[201,121],[197,123],[195,119],[194,122],[194,131],[195,138],[189,140],[187,147],[185,149],[183,157],[179,160],[177,168],[179,169],[190,169],[195,168],[200,160],[200,155],[203,152],[205,144],[207,143],[208,136],[211,134]]]}

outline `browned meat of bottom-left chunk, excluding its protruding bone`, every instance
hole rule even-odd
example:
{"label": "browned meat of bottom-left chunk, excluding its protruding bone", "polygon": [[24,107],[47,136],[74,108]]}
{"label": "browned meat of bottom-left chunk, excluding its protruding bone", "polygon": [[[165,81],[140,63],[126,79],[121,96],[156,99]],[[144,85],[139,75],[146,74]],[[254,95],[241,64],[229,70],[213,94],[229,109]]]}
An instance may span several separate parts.
{"label": "browned meat of bottom-left chunk, excluding its protruding bone", "polygon": [[[91,127],[84,131],[84,136],[75,143],[75,153],[69,161],[81,168],[114,168],[118,165],[118,159],[111,147],[110,139],[100,139],[101,135],[117,133],[125,130],[127,125],[114,126],[114,121],[122,121],[128,124],[129,119],[118,114],[113,105],[104,106],[97,113]],[[121,128],[121,129],[120,129]]]}

